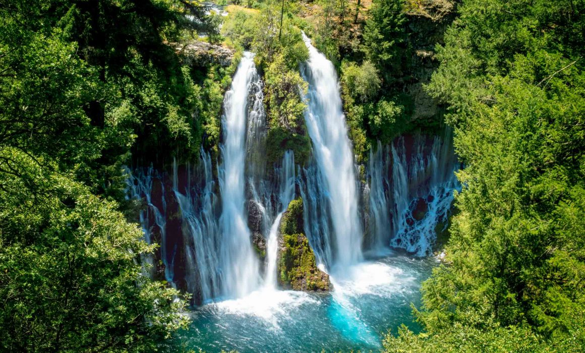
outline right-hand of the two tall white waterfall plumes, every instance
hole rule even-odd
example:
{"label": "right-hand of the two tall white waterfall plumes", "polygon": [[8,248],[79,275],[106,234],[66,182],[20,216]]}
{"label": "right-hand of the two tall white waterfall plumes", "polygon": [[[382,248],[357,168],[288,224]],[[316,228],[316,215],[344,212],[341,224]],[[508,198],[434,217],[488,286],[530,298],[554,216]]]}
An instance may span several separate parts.
{"label": "right-hand of the two tall white waterfall plumes", "polygon": [[[321,261],[330,267],[345,268],[362,259],[359,187],[352,146],[347,137],[335,67],[304,33],[303,39],[309,50],[309,60],[301,67],[302,76],[309,84],[305,122],[316,163],[316,169],[305,171],[308,190],[304,195],[314,197],[304,198],[304,208],[311,218],[305,221],[311,223],[306,231],[312,245],[321,252],[318,255]],[[331,238],[329,231],[332,231]]]}

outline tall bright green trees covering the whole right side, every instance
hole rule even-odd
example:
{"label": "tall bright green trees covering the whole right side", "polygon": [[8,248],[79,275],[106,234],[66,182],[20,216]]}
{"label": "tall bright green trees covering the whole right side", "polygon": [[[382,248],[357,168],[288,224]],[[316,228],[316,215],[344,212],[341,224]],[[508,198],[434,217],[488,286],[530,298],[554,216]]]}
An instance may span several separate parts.
{"label": "tall bright green trees covering the whole right side", "polygon": [[422,287],[427,333],[413,339],[433,347],[472,328],[492,347],[525,327],[544,351],[581,351],[585,4],[467,0],[459,12],[428,89],[449,105],[463,190],[446,263]]}

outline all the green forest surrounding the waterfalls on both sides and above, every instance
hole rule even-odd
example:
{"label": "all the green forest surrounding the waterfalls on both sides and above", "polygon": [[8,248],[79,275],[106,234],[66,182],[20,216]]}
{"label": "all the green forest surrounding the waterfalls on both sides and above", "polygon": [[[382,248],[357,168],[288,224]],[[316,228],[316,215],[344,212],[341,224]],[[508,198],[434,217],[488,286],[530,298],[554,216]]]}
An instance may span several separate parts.
{"label": "all the green forest surrounding the waterfalls on both sides and above", "polygon": [[[339,76],[358,179],[404,133],[449,129],[464,166],[445,256],[412,304],[420,330],[387,327],[381,349],[585,351],[583,0],[217,5],[0,0],[0,351],[150,352],[188,327],[192,293],[145,275],[160,244],[126,166],[218,156],[245,50],[260,157],[307,166],[304,35]],[[191,60],[192,43],[214,49]]]}

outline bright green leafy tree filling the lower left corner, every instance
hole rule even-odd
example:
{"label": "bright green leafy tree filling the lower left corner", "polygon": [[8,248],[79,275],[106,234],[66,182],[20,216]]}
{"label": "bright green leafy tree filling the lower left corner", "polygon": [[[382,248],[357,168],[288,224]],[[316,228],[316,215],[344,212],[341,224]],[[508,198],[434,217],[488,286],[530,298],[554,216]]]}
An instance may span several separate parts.
{"label": "bright green leafy tree filling the lower left corner", "polygon": [[0,350],[152,351],[187,320],[177,291],[142,275],[154,246],[53,169],[0,149]]}

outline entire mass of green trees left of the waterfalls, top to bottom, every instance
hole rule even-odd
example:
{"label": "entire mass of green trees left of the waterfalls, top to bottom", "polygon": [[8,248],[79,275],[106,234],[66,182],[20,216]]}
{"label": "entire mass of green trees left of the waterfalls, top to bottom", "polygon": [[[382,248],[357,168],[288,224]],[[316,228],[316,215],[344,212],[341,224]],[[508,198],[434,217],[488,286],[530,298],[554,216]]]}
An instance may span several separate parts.
{"label": "entire mass of green trees left of the waterfalls, top to bottom", "polygon": [[205,85],[168,45],[193,6],[0,4],[1,350],[152,351],[184,326],[176,290],[142,275],[154,246],[113,200],[137,146],[201,143]]}

